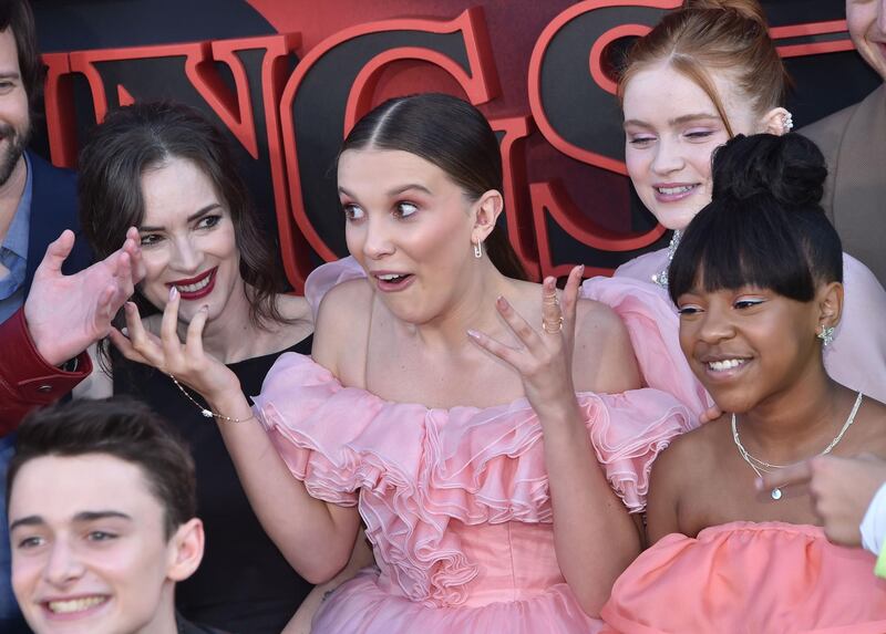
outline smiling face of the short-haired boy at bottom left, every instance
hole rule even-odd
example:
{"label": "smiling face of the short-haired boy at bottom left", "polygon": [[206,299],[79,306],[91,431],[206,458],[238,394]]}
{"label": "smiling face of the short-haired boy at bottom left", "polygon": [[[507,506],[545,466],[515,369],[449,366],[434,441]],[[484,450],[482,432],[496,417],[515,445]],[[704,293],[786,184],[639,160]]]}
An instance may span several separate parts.
{"label": "smiling face of the short-haired boy at bottom left", "polygon": [[103,454],[30,460],[9,519],[12,586],[37,634],[151,631],[172,612],[173,540],[135,465]]}

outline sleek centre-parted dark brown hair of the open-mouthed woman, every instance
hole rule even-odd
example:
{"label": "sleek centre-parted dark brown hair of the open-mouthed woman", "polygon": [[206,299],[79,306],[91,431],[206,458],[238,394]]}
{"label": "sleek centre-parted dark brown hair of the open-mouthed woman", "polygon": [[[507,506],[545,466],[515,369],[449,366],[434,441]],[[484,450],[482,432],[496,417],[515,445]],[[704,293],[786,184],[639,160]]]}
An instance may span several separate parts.
{"label": "sleek centre-parted dark brown hair of the open-mouthed woman", "polygon": [[[486,117],[470,103],[442,93],[388,100],[357,122],[341,146],[348,149],[400,149],[436,165],[477,200],[503,190],[502,153]],[[490,260],[503,274],[525,280],[507,236],[498,228],[486,238]]]}

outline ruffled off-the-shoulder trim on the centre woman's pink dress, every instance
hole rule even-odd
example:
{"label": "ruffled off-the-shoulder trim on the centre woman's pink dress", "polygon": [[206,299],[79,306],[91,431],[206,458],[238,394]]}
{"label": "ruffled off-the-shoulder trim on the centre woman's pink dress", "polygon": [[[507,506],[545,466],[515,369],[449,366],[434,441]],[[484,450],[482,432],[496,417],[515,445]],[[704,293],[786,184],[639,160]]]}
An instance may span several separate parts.
{"label": "ruffled off-the-shoulder trim on the centre woman's pink dress", "polygon": [[[690,426],[671,396],[639,389],[577,395],[598,459],[631,511],[643,508],[652,460]],[[525,398],[430,409],[343,387],[309,357],[284,354],[255,398],[293,476],[317,498],[353,505],[406,596],[457,605],[476,568],[451,520],[549,522],[542,427]],[[379,539],[383,537],[383,539]]]}

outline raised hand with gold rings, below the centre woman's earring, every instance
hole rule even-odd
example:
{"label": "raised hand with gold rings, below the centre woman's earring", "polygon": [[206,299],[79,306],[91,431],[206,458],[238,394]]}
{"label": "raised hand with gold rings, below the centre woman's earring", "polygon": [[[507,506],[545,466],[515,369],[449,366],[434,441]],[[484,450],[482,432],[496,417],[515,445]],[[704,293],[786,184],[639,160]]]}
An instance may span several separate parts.
{"label": "raised hand with gold rings, below the centre woman's earring", "polygon": [[519,341],[518,347],[505,345],[484,333],[468,331],[477,345],[519,372],[526,397],[539,414],[540,408],[562,408],[564,404],[575,402],[573,344],[584,269],[575,267],[571,270],[560,298],[557,297],[554,278],[546,278],[542,283],[540,328],[533,328],[505,298],[498,298],[496,308]]}

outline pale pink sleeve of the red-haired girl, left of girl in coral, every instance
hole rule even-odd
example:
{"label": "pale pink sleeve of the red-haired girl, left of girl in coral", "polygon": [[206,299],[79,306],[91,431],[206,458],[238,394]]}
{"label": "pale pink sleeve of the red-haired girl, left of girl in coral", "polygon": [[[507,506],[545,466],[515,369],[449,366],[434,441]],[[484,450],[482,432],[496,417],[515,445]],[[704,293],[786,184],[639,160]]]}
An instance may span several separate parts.
{"label": "pale pink sleeve of the red-haired girl, left of girl in coral", "polygon": [[625,322],[649,387],[674,395],[694,419],[713,404],[680,349],[680,320],[663,289],[631,277],[598,277],[585,280],[581,297],[608,305]]}

